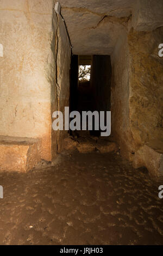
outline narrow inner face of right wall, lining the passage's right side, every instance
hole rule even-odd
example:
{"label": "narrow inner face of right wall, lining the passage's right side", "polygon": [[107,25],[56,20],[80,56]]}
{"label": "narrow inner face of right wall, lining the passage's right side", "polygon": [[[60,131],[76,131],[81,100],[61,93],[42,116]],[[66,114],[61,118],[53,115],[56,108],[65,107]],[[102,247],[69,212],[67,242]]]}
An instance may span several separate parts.
{"label": "narrow inner face of right wall, lining the passage's right side", "polygon": [[111,134],[120,144],[123,156],[130,159],[135,143],[129,120],[129,72],[130,58],[127,33],[123,33],[111,55]]}

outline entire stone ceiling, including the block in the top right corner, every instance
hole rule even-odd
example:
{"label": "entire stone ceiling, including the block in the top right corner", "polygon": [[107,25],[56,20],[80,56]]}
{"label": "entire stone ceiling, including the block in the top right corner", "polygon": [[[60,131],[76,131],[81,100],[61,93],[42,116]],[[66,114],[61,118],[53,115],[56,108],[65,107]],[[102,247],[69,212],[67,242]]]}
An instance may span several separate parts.
{"label": "entire stone ceiling, including the block in the top right corner", "polygon": [[[56,0],[57,1],[57,0]],[[163,0],[59,0],[74,54],[111,54],[131,26],[163,26]]]}

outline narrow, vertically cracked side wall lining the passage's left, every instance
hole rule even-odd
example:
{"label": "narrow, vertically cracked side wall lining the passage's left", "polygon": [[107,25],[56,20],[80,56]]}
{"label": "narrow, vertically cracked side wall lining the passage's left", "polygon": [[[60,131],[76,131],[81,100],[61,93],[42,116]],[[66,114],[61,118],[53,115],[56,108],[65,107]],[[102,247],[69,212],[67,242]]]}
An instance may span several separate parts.
{"label": "narrow, vertically cracked side wall lining the passage's left", "polygon": [[[63,114],[65,106],[70,105],[70,62],[71,47],[68,40],[66,28],[61,16],[53,15],[53,35],[52,40],[52,72],[49,73],[51,82],[51,113],[58,110]],[[53,120],[52,120],[53,121]],[[62,142],[68,135],[68,131],[53,131],[52,129],[52,157],[60,153]]]}

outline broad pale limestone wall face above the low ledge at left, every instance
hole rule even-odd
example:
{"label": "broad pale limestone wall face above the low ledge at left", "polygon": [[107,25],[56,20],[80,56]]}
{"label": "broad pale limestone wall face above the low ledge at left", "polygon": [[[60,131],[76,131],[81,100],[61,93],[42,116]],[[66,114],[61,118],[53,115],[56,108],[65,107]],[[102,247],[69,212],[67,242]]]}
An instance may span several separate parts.
{"label": "broad pale limestone wall face above the low ledge at left", "polygon": [[[70,46],[67,43],[68,50],[62,52],[54,50],[55,44],[61,45],[66,38],[64,23],[57,25],[53,0],[1,0],[0,22],[4,50],[0,57],[0,135],[40,138],[41,157],[51,160],[52,110],[57,106],[56,54],[61,67],[59,87],[64,89],[67,83],[61,84],[68,79],[64,69]],[[56,33],[60,39],[54,43]]]}

